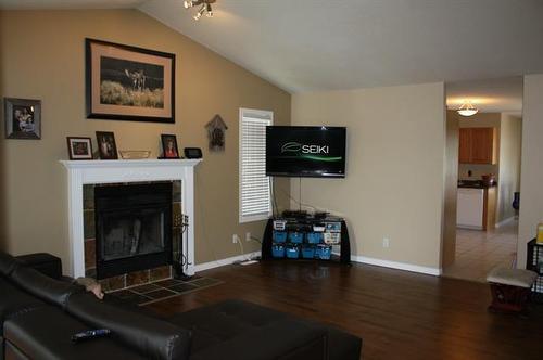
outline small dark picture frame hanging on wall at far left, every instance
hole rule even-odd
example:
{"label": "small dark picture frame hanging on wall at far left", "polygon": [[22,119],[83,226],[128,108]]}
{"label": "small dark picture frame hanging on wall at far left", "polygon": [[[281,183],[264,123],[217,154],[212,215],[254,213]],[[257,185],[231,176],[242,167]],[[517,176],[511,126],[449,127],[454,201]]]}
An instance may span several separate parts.
{"label": "small dark picture frame hanging on wall at far left", "polygon": [[41,101],[4,98],[7,139],[41,139]]}

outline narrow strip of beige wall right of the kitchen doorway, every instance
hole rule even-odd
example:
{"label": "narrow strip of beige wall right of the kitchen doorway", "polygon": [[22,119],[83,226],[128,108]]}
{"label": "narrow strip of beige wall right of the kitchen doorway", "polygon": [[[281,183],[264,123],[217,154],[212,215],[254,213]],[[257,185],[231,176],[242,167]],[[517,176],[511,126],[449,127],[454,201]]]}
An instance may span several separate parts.
{"label": "narrow strip of beige wall right of the kitchen doorway", "polygon": [[526,266],[526,243],[543,220],[543,74],[525,76],[522,160],[517,266]]}

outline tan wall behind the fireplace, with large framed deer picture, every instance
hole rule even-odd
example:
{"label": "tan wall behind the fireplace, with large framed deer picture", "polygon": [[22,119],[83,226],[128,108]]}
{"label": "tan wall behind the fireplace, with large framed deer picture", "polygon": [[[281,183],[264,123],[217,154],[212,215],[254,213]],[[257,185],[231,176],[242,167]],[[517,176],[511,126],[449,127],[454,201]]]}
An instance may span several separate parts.
{"label": "tan wall behind the fireplace, with large framed deer picture", "polygon": [[[175,53],[176,124],[85,119],[86,37]],[[68,259],[66,181],[58,160],[67,158],[67,136],[94,138],[97,130],[114,131],[121,150],[149,149],[153,157],[161,133],[176,133],[181,147],[203,149],[197,262],[239,255],[233,233],[262,235],[262,221],[238,223],[238,111],[274,111],[276,124],[289,124],[289,93],[135,10],[0,12],[0,95],[41,99],[43,118],[40,141],[0,137],[2,248]],[[224,153],[206,150],[204,125],[215,114],[229,127]],[[278,187],[289,190],[287,181]]]}

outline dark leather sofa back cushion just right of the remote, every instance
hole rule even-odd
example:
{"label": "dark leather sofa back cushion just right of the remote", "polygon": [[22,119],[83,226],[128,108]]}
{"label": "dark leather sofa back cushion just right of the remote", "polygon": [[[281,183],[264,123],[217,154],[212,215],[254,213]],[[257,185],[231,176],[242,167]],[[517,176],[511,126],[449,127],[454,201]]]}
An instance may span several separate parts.
{"label": "dark leather sofa back cushion just right of the remote", "polygon": [[169,322],[100,301],[90,294],[74,294],[66,311],[96,327],[112,331],[112,337],[152,359],[188,359],[190,332]]}

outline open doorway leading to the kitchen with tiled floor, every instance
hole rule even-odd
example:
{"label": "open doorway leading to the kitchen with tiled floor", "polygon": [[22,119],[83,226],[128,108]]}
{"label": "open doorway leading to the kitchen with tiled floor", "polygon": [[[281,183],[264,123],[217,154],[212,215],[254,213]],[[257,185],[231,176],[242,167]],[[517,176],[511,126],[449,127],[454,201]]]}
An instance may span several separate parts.
{"label": "open doorway leading to the kitchen with tiled floor", "polygon": [[[443,275],[485,282],[516,267],[522,132],[522,78],[446,85]],[[471,116],[457,111],[470,102]]]}

